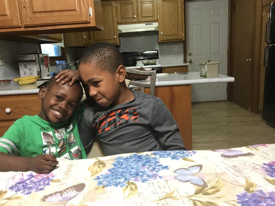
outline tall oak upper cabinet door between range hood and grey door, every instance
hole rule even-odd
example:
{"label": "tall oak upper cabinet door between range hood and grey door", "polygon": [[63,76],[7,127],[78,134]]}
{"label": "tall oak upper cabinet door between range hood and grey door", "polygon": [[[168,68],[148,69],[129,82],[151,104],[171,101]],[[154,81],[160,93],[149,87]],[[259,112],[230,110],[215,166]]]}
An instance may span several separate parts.
{"label": "tall oak upper cabinet door between range hood and grey door", "polygon": [[183,40],[183,2],[160,0],[158,8],[159,42]]}

